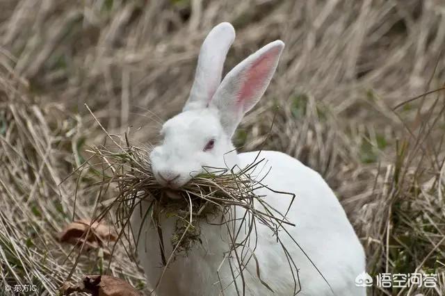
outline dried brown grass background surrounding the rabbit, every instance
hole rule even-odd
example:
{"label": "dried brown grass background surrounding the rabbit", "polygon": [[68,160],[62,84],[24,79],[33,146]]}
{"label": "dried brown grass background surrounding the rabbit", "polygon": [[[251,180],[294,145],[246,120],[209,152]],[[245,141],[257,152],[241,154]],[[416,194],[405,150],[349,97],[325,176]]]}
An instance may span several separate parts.
{"label": "dried brown grass background surrounding the rabbit", "polygon": [[286,43],[236,144],[266,140],[323,174],[370,274],[439,274],[435,289],[376,295],[444,294],[443,1],[0,0],[0,8],[0,285],[53,294],[69,276],[104,272],[143,289],[123,248],[108,269],[107,245],[78,256],[56,237],[100,206],[91,179],[60,185],[86,145],[104,139],[84,104],[111,133],[131,126],[134,141],[155,141],[188,96],[204,36],[228,21],[237,38],[226,69],[266,42]]}

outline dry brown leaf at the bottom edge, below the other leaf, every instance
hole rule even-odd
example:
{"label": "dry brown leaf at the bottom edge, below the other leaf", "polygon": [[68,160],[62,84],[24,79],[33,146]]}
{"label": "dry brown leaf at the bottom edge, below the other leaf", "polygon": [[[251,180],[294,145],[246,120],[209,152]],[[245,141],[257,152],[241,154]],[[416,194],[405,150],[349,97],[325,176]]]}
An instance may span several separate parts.
{"label": "dry brown leaf at the bottom edge, below the other leaf", "polygon": [[75,292],[89,293],[93,296],[140,296],[141,294],[126,281],[108,275],[87,275],[79,283],[63,283],[63,295]]}

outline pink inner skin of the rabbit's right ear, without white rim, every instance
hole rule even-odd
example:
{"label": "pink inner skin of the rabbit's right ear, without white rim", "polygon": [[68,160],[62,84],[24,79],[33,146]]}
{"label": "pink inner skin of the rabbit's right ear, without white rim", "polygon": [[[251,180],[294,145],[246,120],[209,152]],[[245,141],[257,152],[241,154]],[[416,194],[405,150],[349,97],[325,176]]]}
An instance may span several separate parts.
{"label": "pink inner skin of the rabbit's right ear, without white rim", "polygon": [[243,83],[238,92],[236,100],[238,108],[243,108],[243,111],[245,111],[256,103],[256,101],[251,100],[256,99],[256,93],[268,82],[275,57],[280,54],[280,50],[280,48],[271,49],[250,65],[244,74]]}

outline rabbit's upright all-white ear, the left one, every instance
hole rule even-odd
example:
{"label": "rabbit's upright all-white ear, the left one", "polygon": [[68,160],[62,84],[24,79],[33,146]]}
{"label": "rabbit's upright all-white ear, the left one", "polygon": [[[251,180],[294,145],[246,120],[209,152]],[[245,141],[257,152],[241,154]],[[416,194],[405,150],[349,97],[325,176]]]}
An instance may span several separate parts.
{"label": "rabbit's upright all-white ear, the left one", "polygon": [[200,56],[197,58],[195,81],[184,111],[209,106],[213,94],[220,85],[225,56],[234,39],[234,27],[227,22],[211,29],[202,43]]}

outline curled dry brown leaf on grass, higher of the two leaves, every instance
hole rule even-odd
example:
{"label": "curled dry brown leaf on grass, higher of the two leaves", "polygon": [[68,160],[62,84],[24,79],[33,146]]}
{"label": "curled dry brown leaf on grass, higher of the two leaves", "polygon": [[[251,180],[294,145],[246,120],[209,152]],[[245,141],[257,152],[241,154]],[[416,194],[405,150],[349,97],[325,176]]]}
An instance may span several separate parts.
{"label": "curled dry brown leaf on grass, higher of the two leaves", "polygon": [[[104,243],[108,241],[115,241],[118,237],[113,233],[111,227],[106,224],[91,221],[79,220],[72,222],[65,227],[60,233],[60,242],[69,242],[73,245],[81,245],[83,240],[86,240],[86,249],[97,249],[97,247],[104,247]],[[86,238],[86,233],[88,237]]]}

